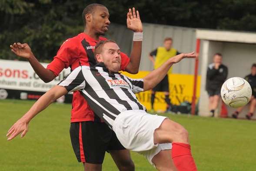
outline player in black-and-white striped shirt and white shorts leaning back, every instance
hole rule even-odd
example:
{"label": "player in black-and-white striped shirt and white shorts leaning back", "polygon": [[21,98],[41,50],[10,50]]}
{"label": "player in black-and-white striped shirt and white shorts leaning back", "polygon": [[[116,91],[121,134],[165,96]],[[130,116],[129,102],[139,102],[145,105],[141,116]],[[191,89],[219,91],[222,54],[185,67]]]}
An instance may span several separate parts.
{"label": "player in black-and-white striped shirt and white shorts leaning back", "polygon": [[144,155],[158,170],[196,171],[188,132],[169,118],[146,113],[135,93],[152,89],[170,67],[183,58],[195,58],[194,53],[181,53],[143,79],[131,79],[120,74],[119,46],[112,40],[101,41],[95,47],[95,66],[79,66],[58,85],[46,92],[8,131],[10,138],[22,132],[30,120],[60,96],[80,91],[96,115],[116,133],[121,144]]}

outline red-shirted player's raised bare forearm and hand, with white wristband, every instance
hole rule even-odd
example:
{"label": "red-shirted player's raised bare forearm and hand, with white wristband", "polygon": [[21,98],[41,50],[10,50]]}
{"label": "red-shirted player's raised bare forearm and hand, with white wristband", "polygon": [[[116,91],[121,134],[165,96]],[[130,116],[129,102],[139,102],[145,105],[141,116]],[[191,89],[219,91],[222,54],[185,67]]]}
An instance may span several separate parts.
{"label": "red-shirted player's raised bare forearm and hand, with white wristband", "polygon": [[[142,33],[142,23],[140,20],[139,11],[129,9],[127,13],[127,28],[133,30],[134,33]],[[133,41],[133,49],[130,54],[130,63],[126,66],[126,71],[131,74],[139,72],[140,57],[141,57],[142,41]]]}

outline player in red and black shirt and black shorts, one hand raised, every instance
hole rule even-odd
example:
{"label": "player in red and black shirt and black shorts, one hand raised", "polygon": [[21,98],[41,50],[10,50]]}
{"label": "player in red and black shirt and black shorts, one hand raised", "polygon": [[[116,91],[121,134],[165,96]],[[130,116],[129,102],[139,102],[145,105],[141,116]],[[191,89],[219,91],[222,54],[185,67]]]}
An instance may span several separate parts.
{"label": "player in red and black shirt and black shorts, one hand raised", "polygon": [[[30,62],[40,79],[50,82],[64,68],[70,67],[73,70],[77,66],[96,64],[93,56],[94,46],[97,42],[106,39],[101,36],[108,30],[109,15],[107,8],[101,4],[88,5],[82,14],[84,32],[67,39],[47,68],[37,61],[27,43],[14,43],[10,48],[17,56]],[[127,28],[134,31],[133,49],[130,58],[124,53],[121,54],[121,70],[134,74],[138,72],[140,66],[143,31],[139,12],[135,8],[129,9],[127,13]],[[76,158],[83,162],[86,171],[101,170],[105,151],[110,152],[119,170],[134,170],[130,151],[126,150],[115,133],[94,115],[79,92],[73,93],[70,138]]]}

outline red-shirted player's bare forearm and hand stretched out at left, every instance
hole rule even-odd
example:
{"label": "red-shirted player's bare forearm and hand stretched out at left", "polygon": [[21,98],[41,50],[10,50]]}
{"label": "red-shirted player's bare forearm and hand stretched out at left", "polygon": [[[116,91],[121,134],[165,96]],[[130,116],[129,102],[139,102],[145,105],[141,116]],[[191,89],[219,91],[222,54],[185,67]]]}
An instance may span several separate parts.
{"label": "red-shirted player's bare forearm and hand stretched out at left", "polygon": [[50,82],[55,78],[51,70],[44,68],[42,64],[38,62],[27,43],[13,43],[13,45],[10,45],[10,48],[15,55],[27,59],[30,62],[30,65],[43,82]]}

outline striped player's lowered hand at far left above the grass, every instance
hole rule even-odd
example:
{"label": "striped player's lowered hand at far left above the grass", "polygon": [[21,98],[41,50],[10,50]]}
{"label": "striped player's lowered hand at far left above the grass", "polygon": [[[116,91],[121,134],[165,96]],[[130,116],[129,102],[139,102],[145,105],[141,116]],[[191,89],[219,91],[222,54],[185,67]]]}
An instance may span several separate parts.
{"label": "striped player's lowered hand at far left above the grass", "polygon": [[20,137],[24,137],[28,131],[28,122],[26,122],[24,119],[20,118],[13,126],[8,130],[7,132],[7,140],[11,140],[15,138],[17,135],[19,135],[21,132]]}

